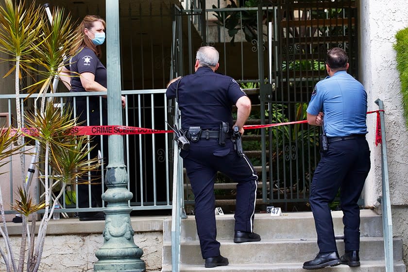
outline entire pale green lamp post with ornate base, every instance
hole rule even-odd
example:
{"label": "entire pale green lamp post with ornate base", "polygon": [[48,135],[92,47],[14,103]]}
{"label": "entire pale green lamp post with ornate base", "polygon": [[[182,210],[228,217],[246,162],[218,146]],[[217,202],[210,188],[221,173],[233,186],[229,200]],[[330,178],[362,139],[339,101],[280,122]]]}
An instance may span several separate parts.
{"label": "entire pale green lamp post with ornate base", "polygon": [[[119,0],[106,0],[106,57],[108,124],[122,125],[120,51],[119,51]],[[128,175],[123,159],[123,136],[109,136],[109,164],[106,171],[106,186],[102,199],[108,203],[104,242],[95,253],[98,261],[95,272],[144,272],[146,264],[140,257],[143,251],[136,246],[135,234],[130,223],[128,201],[133,194],[128,190]]]}

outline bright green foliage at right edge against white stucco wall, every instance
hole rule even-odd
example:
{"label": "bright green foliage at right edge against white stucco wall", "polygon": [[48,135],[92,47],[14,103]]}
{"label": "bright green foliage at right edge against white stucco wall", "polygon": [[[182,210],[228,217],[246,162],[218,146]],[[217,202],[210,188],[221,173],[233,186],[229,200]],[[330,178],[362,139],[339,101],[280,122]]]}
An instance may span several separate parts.
{"label": "bright green foliage at right edge against white stucco wall", "polygon": [[397,52],[396,60],[401,81],[402,104],[408,125],[408,28],[398,31],[395,34],[395,39],[394,49]]}

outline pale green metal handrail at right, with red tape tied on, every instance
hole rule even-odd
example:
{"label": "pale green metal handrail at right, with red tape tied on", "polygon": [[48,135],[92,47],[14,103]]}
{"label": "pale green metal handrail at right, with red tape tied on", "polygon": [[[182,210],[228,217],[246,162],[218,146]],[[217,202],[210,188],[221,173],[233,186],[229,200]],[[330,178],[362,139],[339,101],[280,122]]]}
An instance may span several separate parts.
{"label": "pale green metal handrail at right, with red tape tied on", "polygon": [[385,124],[384,124],[384,105],[380,99],[375,103],[379,108],[380,124],[381,124],[381,173],[382,173],[382,196],[381,210],[383,220],[384,233],[384,255],[385,255],[385,271],[394,271],[394,255],[392,241],[392,218],[391,218],[391,201],[390,201],[390,184],[388,180],[388,161],[387,161],[387,142],[385,140]]}

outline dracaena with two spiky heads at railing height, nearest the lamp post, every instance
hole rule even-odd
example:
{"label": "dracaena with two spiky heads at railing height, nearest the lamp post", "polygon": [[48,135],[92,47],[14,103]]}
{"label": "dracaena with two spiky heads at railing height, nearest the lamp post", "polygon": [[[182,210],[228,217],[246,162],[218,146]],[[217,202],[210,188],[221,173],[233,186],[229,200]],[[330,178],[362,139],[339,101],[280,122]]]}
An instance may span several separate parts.
{"label": "dracaena with two spiky heads at railing height, nearest the lamp post", "polygon": [[[47,102],[45,111],[38,111],[31,117],[27,116],[29,127],[36,128],[36,131],[29,136],[41,143],[44,147],[40,161],[44,161],[44,184],[45,203],[50,203],[52,186],[49,185],[50,178],[61,183],[61,189],[55,199],[59,199],[67,184],[74,184],[81,176],[89,171],[100,167],[98,158],[88,159],[88,154],[93,147],[88,149],[88,136],[71,134],[72,127],[76,125],[76,119],[71,119],[69,110],[61,112],[59,107],[55,107],[52,101]],[[53,175],[49,174],[49,167],[53,170]],[[50,205],[45,205],[45,212],[38,229],[38,240],[44,240],[47,231],[48,221],[51,219],[56,201]],[[34,254],[30,258],[29,267],[33,271],[38,270],[44,243],[37,242],[34,246]]]}

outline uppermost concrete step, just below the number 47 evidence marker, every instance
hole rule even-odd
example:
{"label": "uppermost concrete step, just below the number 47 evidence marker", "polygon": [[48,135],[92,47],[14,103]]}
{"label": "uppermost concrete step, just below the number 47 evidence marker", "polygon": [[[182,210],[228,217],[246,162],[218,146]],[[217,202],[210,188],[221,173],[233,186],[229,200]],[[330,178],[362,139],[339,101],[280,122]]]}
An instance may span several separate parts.
{"label": "uppermost concrete step, just below the number 47 evidence marker", "polygon": [[[343,235],[343,213],[333,211],[333,224],[336,235]],[[361,237],[382,237],[381,216],[372,210],[360,210],[360,233]],[[217,215],[217,237],[222,240],[234,239],[234,215]],[[163,222],[163,240],[171,241],[171,219]],[[255,214],[254,232],[258,233],[262,241],[273,239],[315,239],[316,230],[311,212],[290,212],[282,216],[272,217],[270,214]],[[197,229],[194,216],[188,216],[182,220],[182,240],[198,241]]]}

